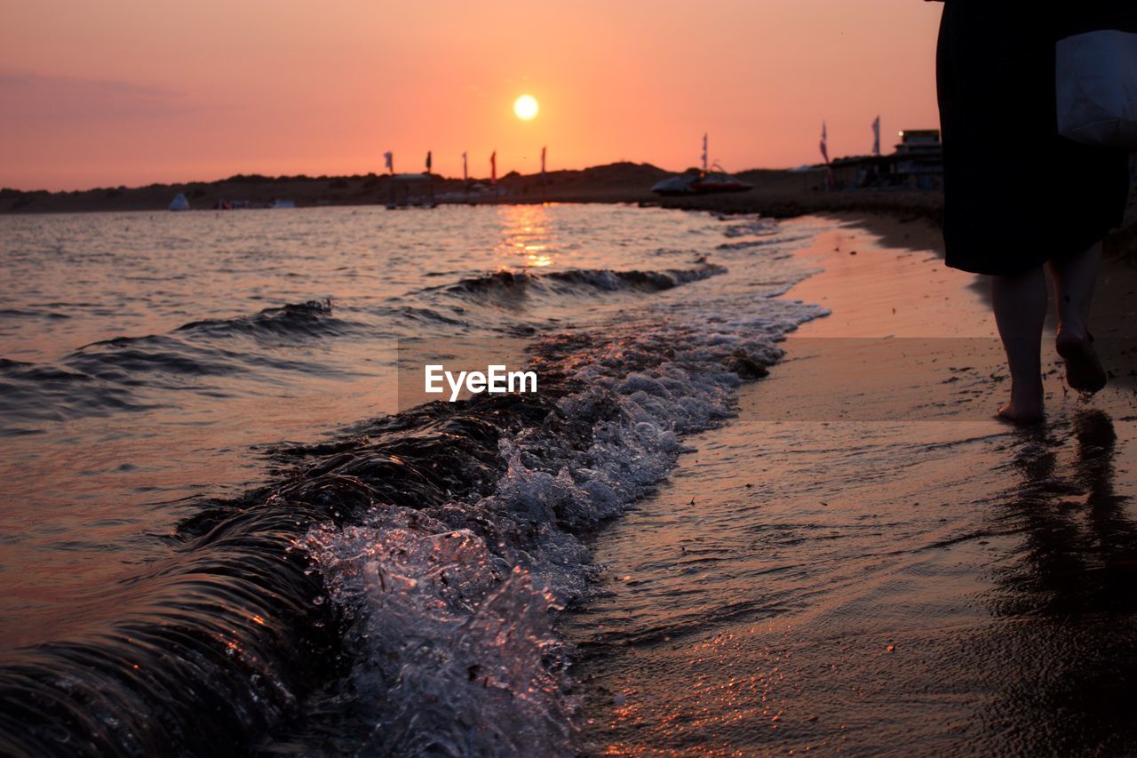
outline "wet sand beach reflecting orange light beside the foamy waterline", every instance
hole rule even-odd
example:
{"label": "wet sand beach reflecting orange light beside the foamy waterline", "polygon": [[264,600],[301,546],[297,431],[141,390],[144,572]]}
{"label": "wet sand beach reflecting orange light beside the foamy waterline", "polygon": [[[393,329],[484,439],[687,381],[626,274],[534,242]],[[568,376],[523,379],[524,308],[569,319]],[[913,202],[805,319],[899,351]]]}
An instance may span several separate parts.
{"label": "wet sand beach reflecting orange light beside the foamy waterline", "polygon": [[[933,228],[870,225],[796,253],[824,272],[788,297],[832,314],[596,537],[589,752],[1137,750],[1132,390],[1065,392],[1048,339],[1047,425],[996,420],[984,288]],[[1131,272],[1103,280],[1118,319]]]}

